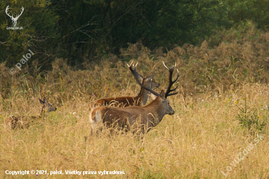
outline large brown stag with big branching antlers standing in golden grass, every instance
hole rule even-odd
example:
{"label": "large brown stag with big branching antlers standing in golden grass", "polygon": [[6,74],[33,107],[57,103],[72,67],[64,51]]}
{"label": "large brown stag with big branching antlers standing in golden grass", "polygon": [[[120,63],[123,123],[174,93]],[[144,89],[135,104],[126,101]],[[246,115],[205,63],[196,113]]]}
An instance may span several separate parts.
{"label": "large brown stag with big branching antlers standing in golden grass", "polygon": [[[136,72],[136,66],[132,69],[132,64],[128,67],[132,71],[136,82],[145,90],[151,92],[151,97],[154,97],[154,100],[146,106],[130,106],[126,108],[109,108],[109,107],[99,107],[95,108],[90,112],[90,123],[91,123],[91,132],[95,133],[97,129],[105,125],[107,127],[112,128],[113,126],[118,126],[120,128],[130,128],[130,126],[134,124],[140,125],[140,129],[142,132],[148,132],[151,128],[157,126],[158,123],[161,122],[164,115],[175,114],[175,111],[171,108],[169,101],[167,100],[168,96],[172,96],[177,94],[178,92],[170,93],[178,88],[178,86],[171,90],[172,85],[178,80],[179,78],[179,71],[177,70],[178,74],[174,81],[172,81],[172,75],[174,68],[168,68],[163,63],[164,67],[169,70],[169,85],[167,87],[166,92],[161,90],[160,94],[156,91],[147,88],[143,84],[140,83],[139,78]],[[169,94],[170,93],[170,94]],[[144,126],[144,127],[143,127]],[[145,131],[146,129],[146,131]]]}

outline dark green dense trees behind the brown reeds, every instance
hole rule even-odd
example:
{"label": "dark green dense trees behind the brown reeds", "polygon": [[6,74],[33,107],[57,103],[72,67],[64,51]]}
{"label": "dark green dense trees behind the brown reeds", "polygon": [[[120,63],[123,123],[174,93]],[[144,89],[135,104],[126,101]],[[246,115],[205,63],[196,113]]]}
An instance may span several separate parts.
{"label": "dark green dense trees behind the brown reeds", "polygon": [[[268,28],[269,0],[8,0],[0,3],[0,62],[13,66],[30,49],[36,66],[56,57],[73,66],[139,40],[154,49],[201,43],[221,28],[252,20]],[[5,13],[20,14],[16,26]],[[31,62],[27,62],[31,63]]]}

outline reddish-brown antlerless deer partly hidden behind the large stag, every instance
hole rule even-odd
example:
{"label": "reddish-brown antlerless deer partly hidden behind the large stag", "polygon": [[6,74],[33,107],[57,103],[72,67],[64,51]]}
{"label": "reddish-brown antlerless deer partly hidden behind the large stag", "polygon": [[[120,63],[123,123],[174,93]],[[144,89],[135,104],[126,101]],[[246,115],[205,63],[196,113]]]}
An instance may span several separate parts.
{"label": "reddish-brown antlerless deer partly hidden behind the large stag", "polygon": [[[133,62],[132,62],[133,63]],[[150,88],[158,88],[160,86],[159,83],[152,81],[151,79],[154,78],[155,73],[148,78],[144,78],[142,75],[137,74],[137,78],[141,83],[147,87]],[[106,98],[106,99],[100,99],[96,101],[94,104],[90,105],[90,111],[92,111],[94,108],[101,107],[101,106],[110,106],[112,107],[111,104],[114,106],[117,105],[117,107],[128,107],[128,106],[144,106],[146,105],[148,101],[148,96],[149,96],[149,91],[145,90],[144,88],[141,87],[140,92],[137,96],[131,97],[131,96],[123,96],[123,97],[114,97],[114,98]]]}

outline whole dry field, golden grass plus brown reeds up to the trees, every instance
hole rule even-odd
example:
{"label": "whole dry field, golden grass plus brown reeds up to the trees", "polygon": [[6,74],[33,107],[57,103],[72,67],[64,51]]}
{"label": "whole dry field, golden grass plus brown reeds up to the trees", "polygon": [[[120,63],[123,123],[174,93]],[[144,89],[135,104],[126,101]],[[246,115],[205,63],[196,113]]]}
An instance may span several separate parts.
{"label": "whole dry field, golden grass plus brown reeds up to the trees", "polygon": [[[168,97],[175,115],[166,115],[156,128],[139,140],[133,133],[104,132],[90,135],[89,105],[100,98],[134,96],[140,90],[123,60],[110,55],[89,70],[76,70],[67,61],[56,59],[52,70],[11,76],[0,65],[0,178],[5,170],[122,171],[125,175],[39,175],[39,178],[137,178],[137,179],[224,179],[237,154],[256,134],[264,136],[228,177],[232,179],[269,178],[269,34],[251,25],[241,32],[221,32],[216,40],[201,46],[184,45],[164,53],[151,52],[141,43],[122,49],[125,61],[138,62],[143,76],[156,72],[159,92],[168,85],[162,60],[179,68],[179,94]],[[211,47],[210,47],[211,46]],[[126,55],[132,54],[132,55]],[[46,96],[57,108],[27,129],[4,130],[4,118],[40,113],[38,97]],[[266,125],[242,126],[236,107]],[[60,108],[61,107],[61,108]],[[256,113],[249,112],[257,110]],[[245,114],[242,114],[245,115]],[[88,140],[85,142],[84,137]],[[34,175],[17,178],[34,178]]]}

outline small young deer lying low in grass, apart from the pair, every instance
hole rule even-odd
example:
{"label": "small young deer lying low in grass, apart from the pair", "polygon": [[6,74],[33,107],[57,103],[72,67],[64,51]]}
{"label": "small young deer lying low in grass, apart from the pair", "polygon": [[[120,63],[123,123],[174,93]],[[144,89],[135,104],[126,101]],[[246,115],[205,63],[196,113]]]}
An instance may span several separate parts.
{"label": "small young deer lying low in grass, apart from the pair", "polygon": [[29,124],[31,121],[33,120],[38,120],[40,118],[42,118],[42,116],[46,113],[48,114],[49,112],[53,112],[56,111],[57,108],[53,107],[52,104],[47,102],[47,99],[44,97],[43,99],[44,101],[42,101],[39,98],[40,103],[43,105],[42,110],[40,115],[38,116],[20,116],[20,117],[15,117],[15,116],[11,116],[8,117],[4,120],[4,128],[11,128],[11,129],[15,129],[15,128],[28,128]]}

